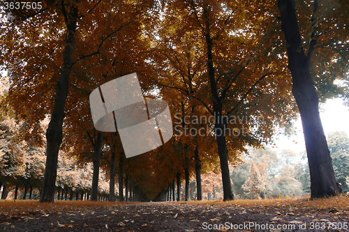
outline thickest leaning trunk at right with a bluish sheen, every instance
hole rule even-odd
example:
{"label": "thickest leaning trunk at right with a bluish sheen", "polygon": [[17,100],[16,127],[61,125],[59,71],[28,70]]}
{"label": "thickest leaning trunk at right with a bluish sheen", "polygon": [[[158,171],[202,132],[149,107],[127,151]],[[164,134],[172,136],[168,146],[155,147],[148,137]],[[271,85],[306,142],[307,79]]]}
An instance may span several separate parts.
{"label": "thickest leaning trunk at right with a bluish sheen", "polygon": [[310,71],[310,56],[315,45],[311,41],[308,56],[302,47],[294,0],[279,0],[282,29],[288,44],[288,68],[292,74],[292,93],[302,119],[306,153],[311,178],[311,197],[341,194],[329,155],[325,133],[318,111],[318,95]]}

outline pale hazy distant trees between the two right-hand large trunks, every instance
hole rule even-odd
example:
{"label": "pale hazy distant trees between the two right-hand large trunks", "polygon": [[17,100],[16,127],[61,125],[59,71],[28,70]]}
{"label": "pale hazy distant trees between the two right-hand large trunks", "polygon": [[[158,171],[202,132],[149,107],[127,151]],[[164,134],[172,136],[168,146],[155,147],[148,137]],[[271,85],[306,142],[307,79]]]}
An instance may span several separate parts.
{"label": "pale hazy distant trees between the two right-hand large trunks", "polygon": [[[301,196],[309,192],[310,179],[306,162],[289,152],[276,154],[273,150],[253,150],[243,164],[231,172],[234,191],[239,198],[279,198]],[[292,160],[292,162],[288,162]],[[299,171],[301,169],[302,171]],[[304,178],[302,183],[302,176]],[[302,181],[301,181],[302,180]],[[308,188],[306,188],[308,187]]]}

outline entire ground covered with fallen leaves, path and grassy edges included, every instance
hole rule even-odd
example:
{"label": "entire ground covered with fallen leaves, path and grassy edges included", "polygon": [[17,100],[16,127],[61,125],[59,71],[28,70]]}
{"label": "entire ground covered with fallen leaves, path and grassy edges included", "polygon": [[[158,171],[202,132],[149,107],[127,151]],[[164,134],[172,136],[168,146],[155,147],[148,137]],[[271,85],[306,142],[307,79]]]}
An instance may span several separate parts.
{"label": "entire ground covered with fallen leaves, path and grassy edges included", "polygon": [[0,231],[349,231],[349,198],[0,201]]}

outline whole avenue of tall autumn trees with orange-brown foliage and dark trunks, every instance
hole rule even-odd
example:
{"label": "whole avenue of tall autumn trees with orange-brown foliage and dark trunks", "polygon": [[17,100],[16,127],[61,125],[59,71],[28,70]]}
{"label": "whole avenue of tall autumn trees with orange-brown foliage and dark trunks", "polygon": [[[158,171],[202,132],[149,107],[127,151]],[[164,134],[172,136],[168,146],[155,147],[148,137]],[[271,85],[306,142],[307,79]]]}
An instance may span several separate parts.
{"label": "whole avenue of tall autumn trees with orange-brown foliage and dark trunks", "polygon": [[[346,135],[326,141],[318,111],[319,101],[348,99],[347,1],[60,0],[0,9],[4,187],[35,185],[40,202],[57,190],[94,201],[106,193],[109,201],[181,200],[184,180],[189,200],[195,178],[201,200],[202,177],[213,172],[224,201],[348,190]],[[168,102],[174,137],[126,159],[118,132],[94,129],[89,94],[132,72],[145,99]],[[292,153],[249,152],[272,143],[279,127],[292,133],[297,114],[309,169],[290,162]]]}

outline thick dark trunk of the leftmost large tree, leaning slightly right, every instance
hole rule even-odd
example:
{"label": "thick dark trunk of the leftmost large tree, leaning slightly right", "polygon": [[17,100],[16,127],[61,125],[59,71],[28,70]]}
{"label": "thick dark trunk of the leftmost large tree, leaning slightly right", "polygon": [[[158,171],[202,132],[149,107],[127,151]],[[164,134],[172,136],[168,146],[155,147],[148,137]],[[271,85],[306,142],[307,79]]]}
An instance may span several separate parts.
{"label": "thick dark trunk of the leftmost large tree, leaning slightly right", "polygon": [[63,52],[63,64],[61,74],[56,86],[56,96],[54,98],[54,108],[51,115],[51,121],[46,132],[46,166],[43,180],[43,189],[40,194],[40,202],[54,202],[54,191],[57,177],[57,162],[59,146],[63,138],[62,125],[64,121],[64,108],[66,97],[68,95],[69,75],[72,68],[73,52],[75,47],[75,32],[77,26],[77,7],[68,6],[65,9],[65,3],[62,3],[64,15],[66,17],[66,46]]}

